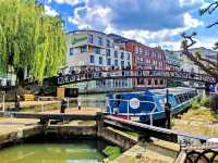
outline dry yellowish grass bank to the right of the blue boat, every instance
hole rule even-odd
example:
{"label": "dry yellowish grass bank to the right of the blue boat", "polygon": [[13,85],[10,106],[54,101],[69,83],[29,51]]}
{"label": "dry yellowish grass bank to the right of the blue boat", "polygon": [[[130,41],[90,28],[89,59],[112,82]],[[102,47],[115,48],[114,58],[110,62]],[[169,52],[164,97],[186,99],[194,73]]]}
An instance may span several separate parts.
{"label": "dry yellowish grass bank to the right of the blue boat", "polygon": [[209,106],[209,98],[196,99],[192,108],[181,115],[181,120],[173,118],[173,129],[183,130],[195,135],[218,137],[218,114]]}

